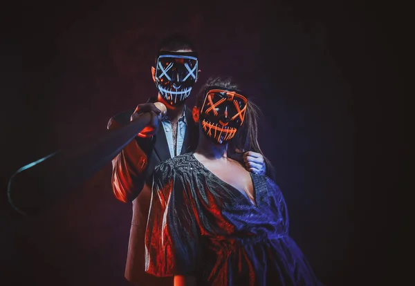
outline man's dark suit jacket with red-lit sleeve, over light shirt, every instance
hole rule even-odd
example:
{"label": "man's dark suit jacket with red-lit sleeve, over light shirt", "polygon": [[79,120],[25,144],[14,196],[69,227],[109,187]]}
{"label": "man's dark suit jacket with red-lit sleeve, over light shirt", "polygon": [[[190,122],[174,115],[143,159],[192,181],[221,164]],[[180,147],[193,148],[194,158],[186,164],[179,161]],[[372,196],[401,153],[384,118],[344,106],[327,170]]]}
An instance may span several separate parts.
{"label": "man's dark suit jacket with red-lit sleeve, over light shirt", "polygon": [[[154,102],[149,100],[149,102]],[[111,117],[108,128],[118,128],[129,124],[133,109]],[[196,149],[199,136],[198,125],[192,119],[192,112],[185,109],[186,130],[181,154]],[[142,191],[144,183],[151,180],[154,168],[170,158],[169,147],[163,124],[160,122],[158,132],[152,140],[136,137],[113,159],[112,187],[113,193],[122,202],[133,202],[133,218],[125,268],[125,278],[134,285],[172,286],[173,279],[156,278],[145,273],[145,229],[151,193]],[[139,194],[138,194],[139,193]]]}

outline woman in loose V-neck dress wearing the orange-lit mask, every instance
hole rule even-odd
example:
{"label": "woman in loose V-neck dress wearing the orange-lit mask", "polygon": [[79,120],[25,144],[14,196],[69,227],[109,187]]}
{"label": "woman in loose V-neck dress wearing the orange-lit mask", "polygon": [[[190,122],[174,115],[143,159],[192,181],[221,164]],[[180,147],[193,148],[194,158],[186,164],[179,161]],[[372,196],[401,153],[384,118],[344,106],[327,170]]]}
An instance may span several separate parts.
{"label": "woman in loose V-neck dress wearing the orange-lit mask", "polygon": [[228,156],[228,149],[262,154],[257,107],[230,79],[214,78],[201,89],[193,115],[200,129],[196,151],[154,171],[146,271],[174,276],[174,286],[320,285],[288,236],[277,185]]}

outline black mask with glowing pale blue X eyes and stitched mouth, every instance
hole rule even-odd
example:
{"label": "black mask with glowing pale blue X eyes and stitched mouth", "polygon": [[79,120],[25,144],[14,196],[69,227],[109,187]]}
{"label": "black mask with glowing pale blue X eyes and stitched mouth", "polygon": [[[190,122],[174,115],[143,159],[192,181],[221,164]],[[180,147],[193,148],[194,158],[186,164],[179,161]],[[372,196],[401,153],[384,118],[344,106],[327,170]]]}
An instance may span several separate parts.
{"label": "black mask with glowing pale blue X eyes and stitched mouth", "polygon": [[184,102],[197,79],[197,53],[160,52],[156,62],[156,86],[165,101]]}

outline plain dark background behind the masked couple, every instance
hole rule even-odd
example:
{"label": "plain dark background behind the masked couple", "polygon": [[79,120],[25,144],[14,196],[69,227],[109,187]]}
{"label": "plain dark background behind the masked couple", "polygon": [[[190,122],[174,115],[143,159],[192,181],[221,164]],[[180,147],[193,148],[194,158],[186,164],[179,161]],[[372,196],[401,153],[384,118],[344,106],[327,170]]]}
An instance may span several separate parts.
{"label": "plain dark background behind the masked couple", "polygon": [[385,152],[398,137],[392,10],[384,17],[379,3],[350,1],[138,2],[1,10],[0,284],[129,285],[131,206],[112,196],[111,164],[36,218],[10,208],[7,182],[156,95],[158,41],[182,31],[199,48],[193,95],[208,76],[232,75],[261,107],[259,142],[275,164],[291,236],[317,276],[326,285],[395,285],[387,192],[399,150]]}

